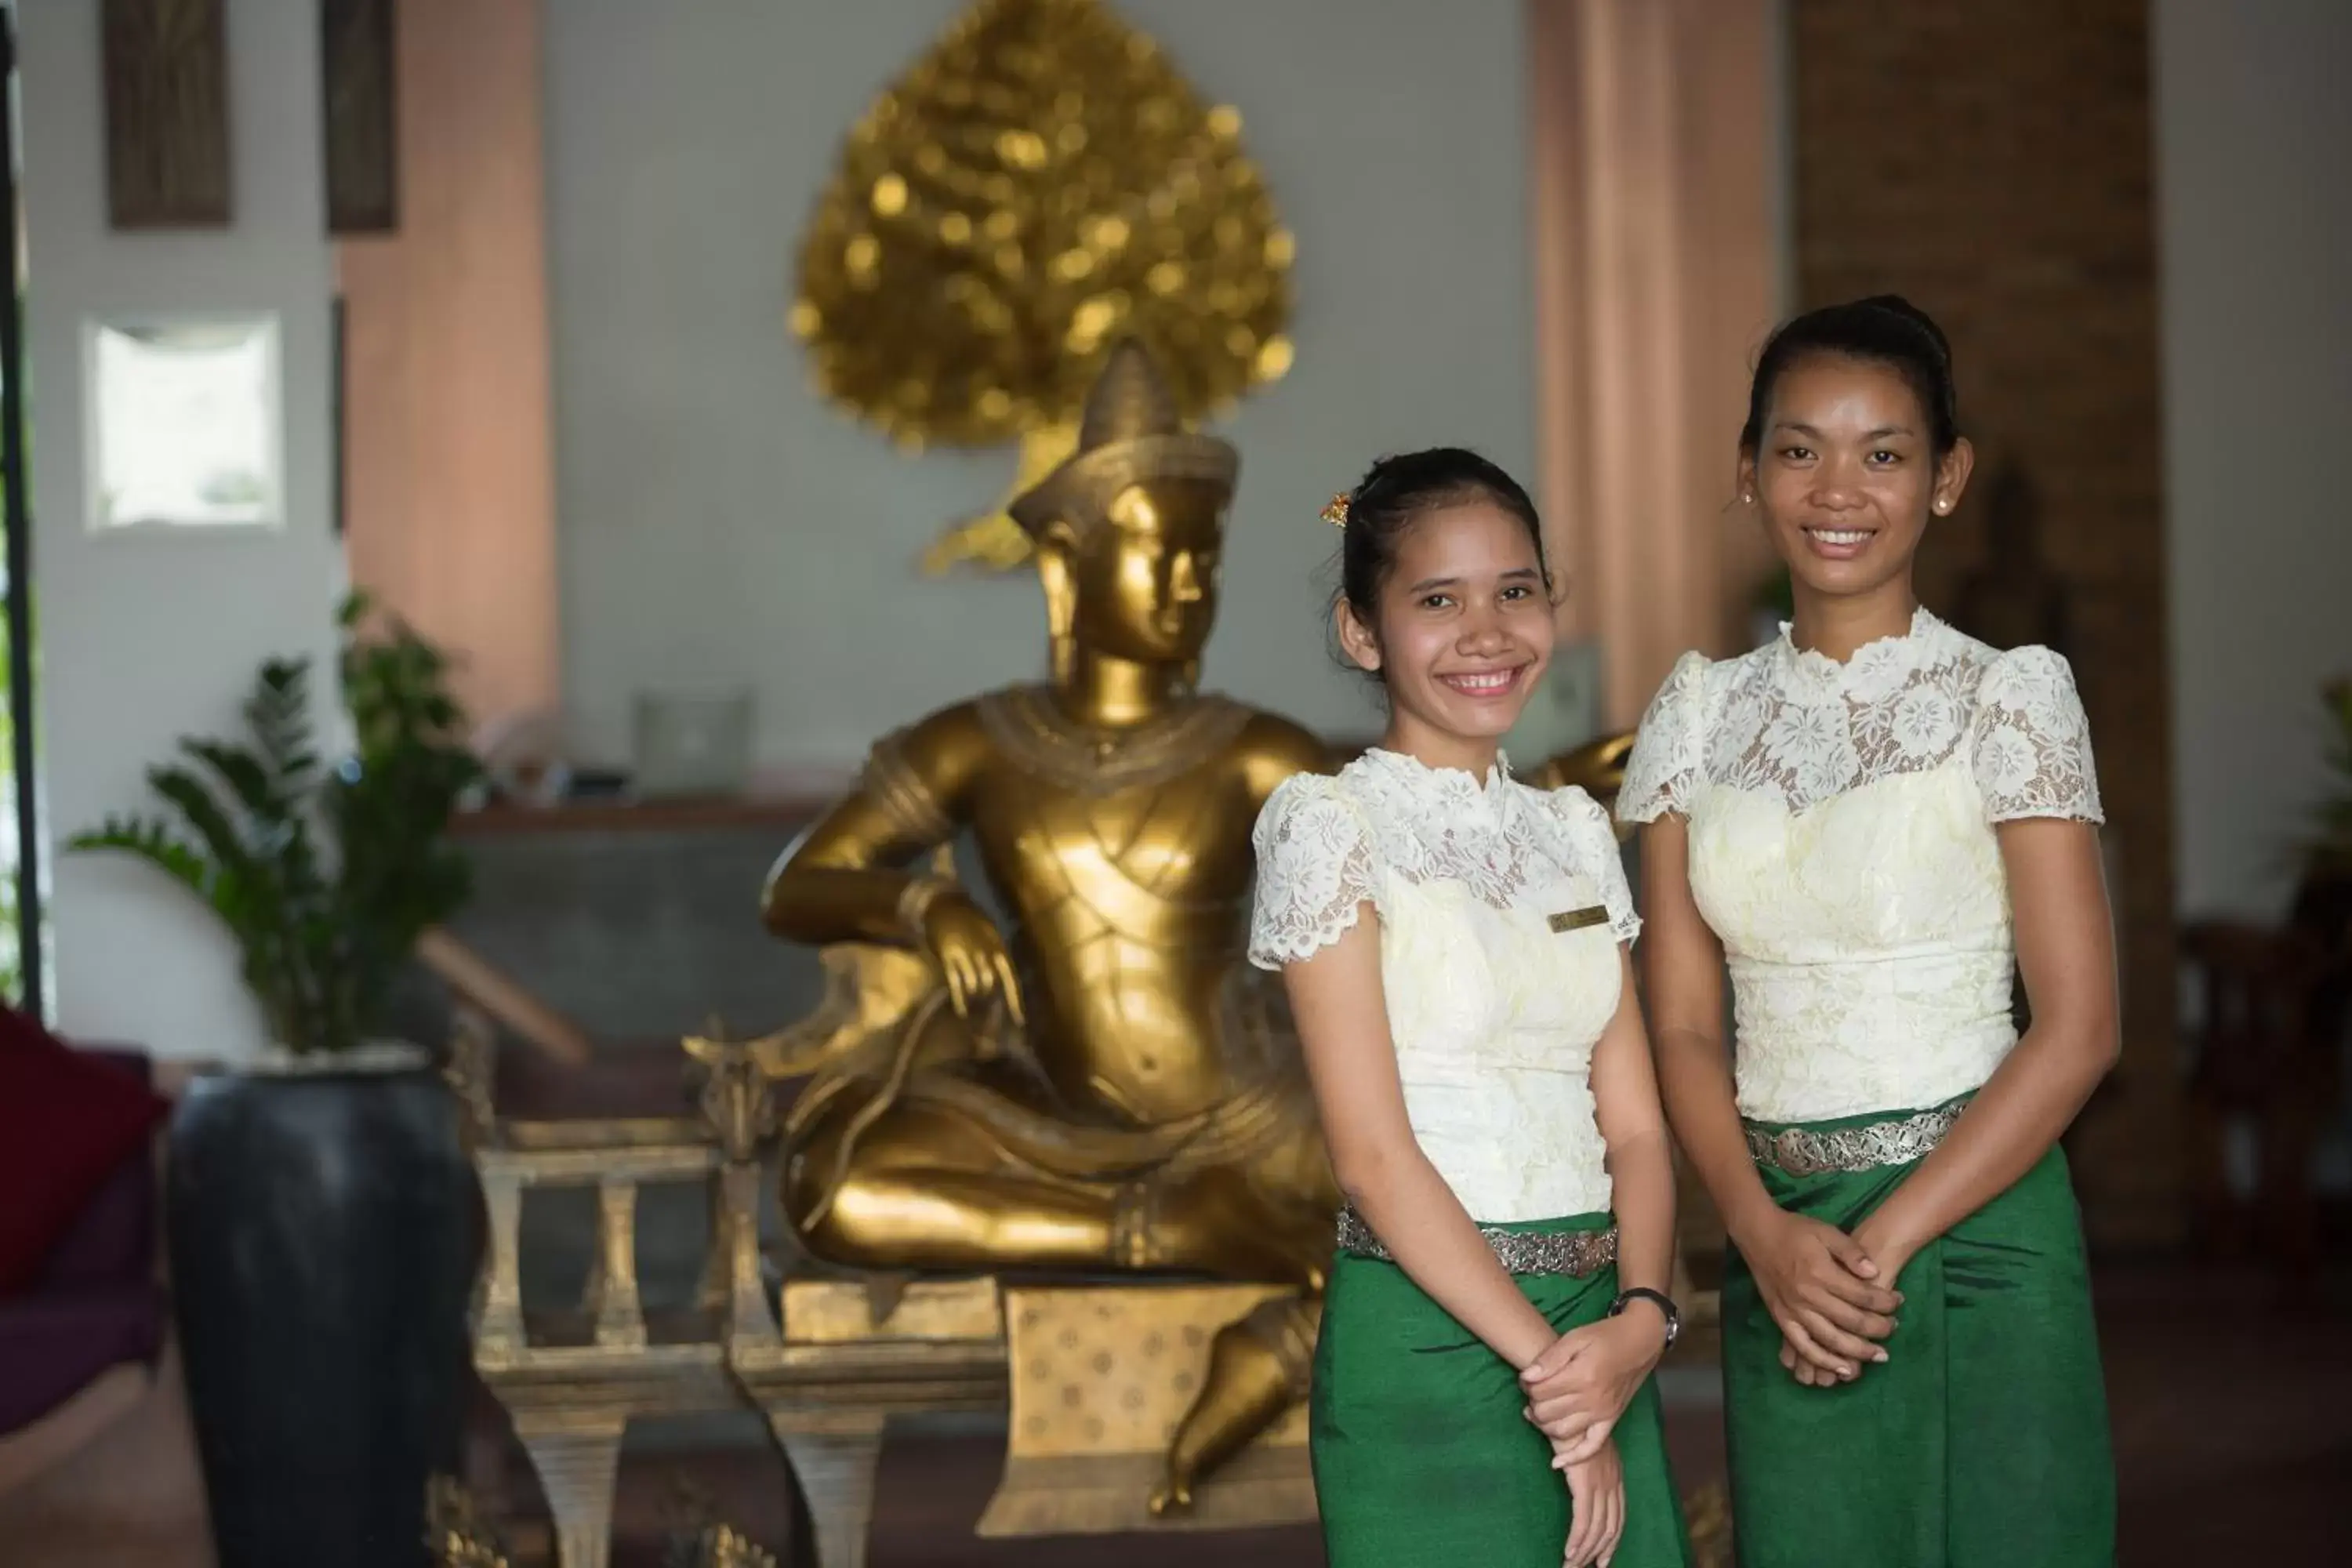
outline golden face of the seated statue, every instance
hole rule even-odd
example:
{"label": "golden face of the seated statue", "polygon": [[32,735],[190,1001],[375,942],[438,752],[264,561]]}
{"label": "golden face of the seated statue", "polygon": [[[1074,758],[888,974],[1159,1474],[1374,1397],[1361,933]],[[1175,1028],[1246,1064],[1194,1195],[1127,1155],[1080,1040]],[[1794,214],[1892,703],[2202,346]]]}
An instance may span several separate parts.
{"label": "golden face of the seated statue", "polygon": [[1225,487],[1204,480],[1129,484],[1077,548],[1077,639],[1152,665],[1200,658],[1216,621]]}

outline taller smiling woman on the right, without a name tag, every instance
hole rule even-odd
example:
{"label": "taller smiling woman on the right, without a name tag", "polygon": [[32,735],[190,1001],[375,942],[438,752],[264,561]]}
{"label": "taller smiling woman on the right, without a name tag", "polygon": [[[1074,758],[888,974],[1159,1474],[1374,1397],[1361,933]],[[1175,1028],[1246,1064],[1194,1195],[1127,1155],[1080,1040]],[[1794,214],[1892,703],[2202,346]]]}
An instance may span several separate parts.
{"label": "taller smiling woman on the right, without a name tag", "polygon": [[1618,797],[1649,823],[1658,1077],[1733,1244],[1743,1568],[2114,1561],[2058,1150],[2117,1053],[2098,780],[2063,658],[1917,607],[1912,555],[1969,465],[1926,315],[1872,299],[1785,324],[1740,501],[1795,625],[1686,656]]}

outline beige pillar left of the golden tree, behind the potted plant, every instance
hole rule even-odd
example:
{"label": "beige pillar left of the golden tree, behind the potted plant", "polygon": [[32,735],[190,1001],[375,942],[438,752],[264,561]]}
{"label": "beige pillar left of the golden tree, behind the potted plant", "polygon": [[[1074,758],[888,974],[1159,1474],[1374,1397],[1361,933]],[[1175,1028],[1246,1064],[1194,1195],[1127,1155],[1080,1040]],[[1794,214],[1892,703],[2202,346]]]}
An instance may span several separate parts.
{"label": "beige pillar left of the golden tree, behind the potted plant", "polygon": [[400,230],[336,247],[346,548],[489,719],[560,682],[539,5],[405,0],[397,28]]}

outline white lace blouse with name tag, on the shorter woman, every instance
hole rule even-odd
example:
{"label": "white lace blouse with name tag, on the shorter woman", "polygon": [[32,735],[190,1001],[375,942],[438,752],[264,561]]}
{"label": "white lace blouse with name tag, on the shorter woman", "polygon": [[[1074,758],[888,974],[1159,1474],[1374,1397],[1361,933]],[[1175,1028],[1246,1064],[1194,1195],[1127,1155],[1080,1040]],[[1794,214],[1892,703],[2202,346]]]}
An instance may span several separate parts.
{"label": "white lace blouse with name tag, on the shorter woman", "polygon": [[1374,750],[1287,780],[1256,844],[1261,969],[1378,912],[1404,1112],[1463,1208],[1491,1225],[1606,1211],[1592,1046],[1642,924],[1592,797]]}

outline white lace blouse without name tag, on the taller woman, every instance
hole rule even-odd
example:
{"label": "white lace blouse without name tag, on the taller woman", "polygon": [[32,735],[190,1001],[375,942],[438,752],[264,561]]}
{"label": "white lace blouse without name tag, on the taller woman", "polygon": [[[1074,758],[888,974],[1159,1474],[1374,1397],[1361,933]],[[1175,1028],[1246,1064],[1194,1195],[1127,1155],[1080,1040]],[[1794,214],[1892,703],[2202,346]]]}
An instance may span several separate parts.
{"label": "white lace blouse without name tag, on the taller woman", "polygon": [[1689,818],[1691,896],[1731,966],[1740,1114],[1926,1110],[2016,1044],[1994,823],[2100,820],[2065,661],[1924,609],[1844,665],[1788,628],[1686,654],[1642,719],[1618,816]]}

